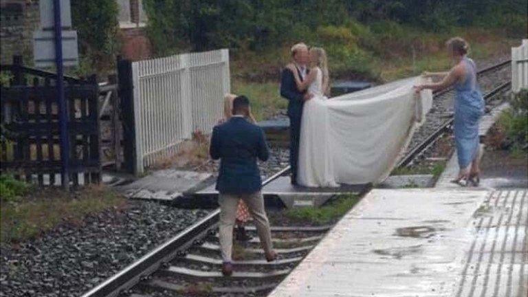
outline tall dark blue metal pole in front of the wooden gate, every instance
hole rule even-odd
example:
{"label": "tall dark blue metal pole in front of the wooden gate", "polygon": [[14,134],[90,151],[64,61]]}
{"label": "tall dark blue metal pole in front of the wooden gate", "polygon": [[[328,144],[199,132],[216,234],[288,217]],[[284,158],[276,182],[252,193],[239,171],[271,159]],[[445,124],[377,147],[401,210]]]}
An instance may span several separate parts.
{"label": "tall dark blue metal pole in front of the wooden gate", "polygon": [[62,185],[69,189],[69,135],[68,113],[64,96],[63,71],[63,26],[61,23],[61,0],[53,0],[54,28],[55,28],[55,63],[57,67],[57,98],[59,108],[59,123],[61,125],[61,161],[63,164]]}

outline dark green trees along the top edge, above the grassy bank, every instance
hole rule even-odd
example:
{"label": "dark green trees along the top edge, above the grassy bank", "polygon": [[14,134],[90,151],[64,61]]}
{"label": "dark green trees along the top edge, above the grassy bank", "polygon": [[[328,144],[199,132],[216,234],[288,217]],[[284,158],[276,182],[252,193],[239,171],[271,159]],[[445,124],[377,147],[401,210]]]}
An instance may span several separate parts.
{"label": "dark green trees along the top edge, above the grassy bank", "polygon": [[357,21],[386,20],[429,32],[471,25],[507,28],[518,36],[526,34],[528,13],[527,1],[518,0],[145,0],[144,7],[159,53],[217,47],[259,51],[304,39],[312,32],[353,44],[366,35]]}

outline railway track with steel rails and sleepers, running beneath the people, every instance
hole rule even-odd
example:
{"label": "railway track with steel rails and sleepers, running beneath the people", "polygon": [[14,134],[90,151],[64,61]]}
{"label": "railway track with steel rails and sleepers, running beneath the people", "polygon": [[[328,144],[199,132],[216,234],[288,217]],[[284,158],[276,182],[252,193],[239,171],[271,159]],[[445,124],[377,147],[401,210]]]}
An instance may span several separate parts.
{"label": "railway track with steel rails and sleepers, running beneath the people", "polygon": [[[478,72],[485,77],[500,71],[509,65],[509,61],[498,63]],[[496,82],[486,87],[485,99],[492,102],[497,94],[509,87],[509,81]],[[452,91],[434,94],[434,102],[448,100]],[[442,102],[442,104],[444,104]],[[446,110],[436,107],[443,119],[434,129],[426,127],[428,135],[418,137],[411,144],[411,149],[401,159],[398,167],[409,166],[419,159],[435,141],[450,132],[452,115],[446,116]],[[429,119],[428,119],[429,120]],[[428,129],[428,130],[427,130]],[[263,184],[289,173],[289,166],[267,178]],[[364,192],[369,188],[364,188]],[[132,263],[94,289],[83,294],[83,297],[99,296],[263,296],[278,283],[303,259],[331,225],[319,227],[272,227],[274,246],[281,258],[267,263],[260,250],[259,239],[253,239],[238,245],[234,249],[235,271],[230,278],[221,275],[221,259],[217,223],[220,210],[213,210],[207,217],[173,237],[141,259]],[[256,234],[254,228],[248,228],[250,234]]]}

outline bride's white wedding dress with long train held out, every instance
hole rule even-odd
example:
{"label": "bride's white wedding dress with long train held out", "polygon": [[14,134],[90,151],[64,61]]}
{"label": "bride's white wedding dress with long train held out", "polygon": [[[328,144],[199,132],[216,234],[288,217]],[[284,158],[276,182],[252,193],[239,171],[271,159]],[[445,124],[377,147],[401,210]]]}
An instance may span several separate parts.
{"label": "bride's white wedding dress with long train held out", "polygon": [[432,106],[432,92],[415,94],[415,77],[328,100],[316,68],[300,128],[297,182],[309,187],[381,182],[404,155]]}

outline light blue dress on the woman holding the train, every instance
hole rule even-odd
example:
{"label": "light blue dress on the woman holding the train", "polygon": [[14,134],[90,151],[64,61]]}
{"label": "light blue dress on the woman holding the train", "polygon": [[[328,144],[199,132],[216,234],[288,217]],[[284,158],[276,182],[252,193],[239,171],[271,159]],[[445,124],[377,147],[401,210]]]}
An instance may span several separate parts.
{"label": "light blue dress on the woman holding the train", "polygon": [[454,89],[454,141],[461,169],[467,168],[478,152],[478,122],[484,113],[484,98],[476,84],[476,66],[470,58],[463,58],[465,80]]}

